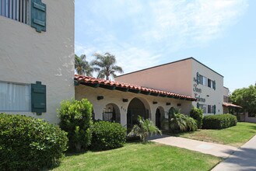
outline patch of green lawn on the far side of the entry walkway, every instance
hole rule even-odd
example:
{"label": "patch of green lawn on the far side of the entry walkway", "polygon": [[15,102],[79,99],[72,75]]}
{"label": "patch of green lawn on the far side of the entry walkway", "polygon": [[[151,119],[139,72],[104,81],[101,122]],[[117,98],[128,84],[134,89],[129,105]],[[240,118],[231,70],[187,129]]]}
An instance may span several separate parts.
{"label": "patch of green lawn on the far side of the entry walkway", "polygon": [[200,141],[215,142],[223,145],[240,147],[256,134],[256,124],[239,122],[235,127],[223,130],[198,130],[190,133],[177,134],[179,137]]}

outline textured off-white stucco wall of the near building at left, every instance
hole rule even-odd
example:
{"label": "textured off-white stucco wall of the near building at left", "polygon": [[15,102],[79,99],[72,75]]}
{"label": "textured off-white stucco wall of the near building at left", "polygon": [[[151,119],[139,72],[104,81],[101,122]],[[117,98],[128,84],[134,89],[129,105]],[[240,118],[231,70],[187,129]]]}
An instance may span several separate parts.
{"label": "textured off-white stucco wall of the near building at left", "polygon": [[0,16],[0,81],[42,82],[47,86],[47,113],[26,114],[58,123],[59,103],[75,96],[74,1],[42,2],[47,5],[46,32]]}

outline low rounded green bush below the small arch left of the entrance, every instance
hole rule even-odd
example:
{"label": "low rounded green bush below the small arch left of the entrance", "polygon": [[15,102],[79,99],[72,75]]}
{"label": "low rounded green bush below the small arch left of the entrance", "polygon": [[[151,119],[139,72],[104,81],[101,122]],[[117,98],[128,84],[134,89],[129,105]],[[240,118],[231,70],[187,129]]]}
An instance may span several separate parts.
{"label": "low rounded green bush below the small arch left of the entrance", "polygon": [[91,148],[93,150],[108,150],[122,147],[126,139],[126,129],[121,124],[96,121],[92,127],[93,138]]}

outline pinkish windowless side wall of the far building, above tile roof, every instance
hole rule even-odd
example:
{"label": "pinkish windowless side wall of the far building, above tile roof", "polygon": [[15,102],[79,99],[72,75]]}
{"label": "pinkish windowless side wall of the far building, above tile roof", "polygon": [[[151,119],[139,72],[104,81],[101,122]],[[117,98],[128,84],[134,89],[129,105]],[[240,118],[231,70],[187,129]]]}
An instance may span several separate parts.
{"label": "pinkish windowless side wall of the far building, above tile roof", "polygon": [[121,75],[115,80],[191,96],[191,66],[188,59]]}

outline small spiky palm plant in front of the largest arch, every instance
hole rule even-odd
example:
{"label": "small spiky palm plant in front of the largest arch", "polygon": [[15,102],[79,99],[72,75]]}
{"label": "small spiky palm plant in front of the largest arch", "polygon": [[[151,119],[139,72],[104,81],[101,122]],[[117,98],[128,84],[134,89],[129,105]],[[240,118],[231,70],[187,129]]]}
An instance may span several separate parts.
{"label": "small spiky palm plant in front of the largest arch", "polygon": [[142,142],[146,142],[149,136],[153,134],[162,134],[160,129],[153,124],[152,120],[146,119],[144,120],[142,117],[138,117],[139,124],[135,124],[132,127],[132,131],[128,134],[129,137],[139,136]]}

